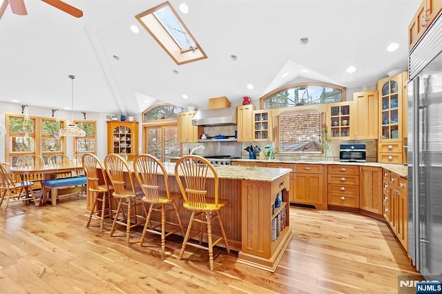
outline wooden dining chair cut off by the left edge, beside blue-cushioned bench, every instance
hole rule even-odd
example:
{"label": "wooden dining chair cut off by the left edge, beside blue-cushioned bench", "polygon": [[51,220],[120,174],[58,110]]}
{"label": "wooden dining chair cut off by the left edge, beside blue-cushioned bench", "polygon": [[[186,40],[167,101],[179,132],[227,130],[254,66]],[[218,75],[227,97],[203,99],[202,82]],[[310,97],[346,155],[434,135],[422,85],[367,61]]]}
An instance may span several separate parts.
{"label": "wooden dining chair cut off by the left edge, beside blue-cushioned bench", "polygon": [[32,190],[32,182],[15,182],[12,174],[8,173],[6,167],[0,162],[0,206],[6,197],[6,207],[9,202],[35,202],[35,194]]}

